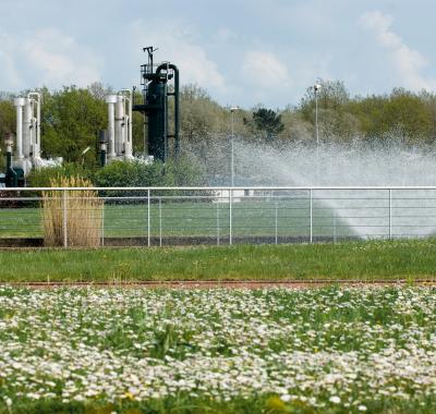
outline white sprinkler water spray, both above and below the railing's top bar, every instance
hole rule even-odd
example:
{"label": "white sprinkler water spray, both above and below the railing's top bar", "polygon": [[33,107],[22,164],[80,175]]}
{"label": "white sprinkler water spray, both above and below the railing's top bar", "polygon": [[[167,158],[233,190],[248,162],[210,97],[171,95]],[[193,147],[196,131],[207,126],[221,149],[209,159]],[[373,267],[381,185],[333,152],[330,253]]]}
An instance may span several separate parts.
{"label": "white sprinkler water spray, both above and below the railing's top bar", "polygon": [[[210,183],[230,185],[231,147],[221,141],[208,148],[205,169]],[[431,147],[392,143],[272,147],[235,141],[233,150],[237,186],[436,185],[436,151]],[[389,192],[376,190],[317,190],[315,196],[362,238],[387,236],[389,231],[393,236],[422,236],[436,229],[435,191],[395,191],[390,202]]]}

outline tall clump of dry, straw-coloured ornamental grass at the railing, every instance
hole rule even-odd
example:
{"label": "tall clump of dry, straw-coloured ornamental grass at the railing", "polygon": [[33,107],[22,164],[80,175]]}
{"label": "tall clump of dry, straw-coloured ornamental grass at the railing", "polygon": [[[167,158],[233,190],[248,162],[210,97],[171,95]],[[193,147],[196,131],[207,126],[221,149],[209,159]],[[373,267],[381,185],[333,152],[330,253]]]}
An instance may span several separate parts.
{"label": "tall clump of dry, straw-coloured ornamental grass at the railing", "polygon": [[[60,176],[52,187],[92,187],[89,180]],[[43,192],[43,227],[46,246],[98,247],[102,235],[104,202],[95,190]]]}

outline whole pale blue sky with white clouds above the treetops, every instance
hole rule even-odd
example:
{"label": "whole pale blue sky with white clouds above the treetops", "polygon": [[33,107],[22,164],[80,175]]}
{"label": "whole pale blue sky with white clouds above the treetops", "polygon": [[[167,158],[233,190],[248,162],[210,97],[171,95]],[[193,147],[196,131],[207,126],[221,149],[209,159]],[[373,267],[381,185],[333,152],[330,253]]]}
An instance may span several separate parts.
{"label": "whole pale blue sky with white clouds above the treetops", "polygon": [[0,0],[0,90],[140,86],[144,46],[221,105],[436,88],[434,0]]}

